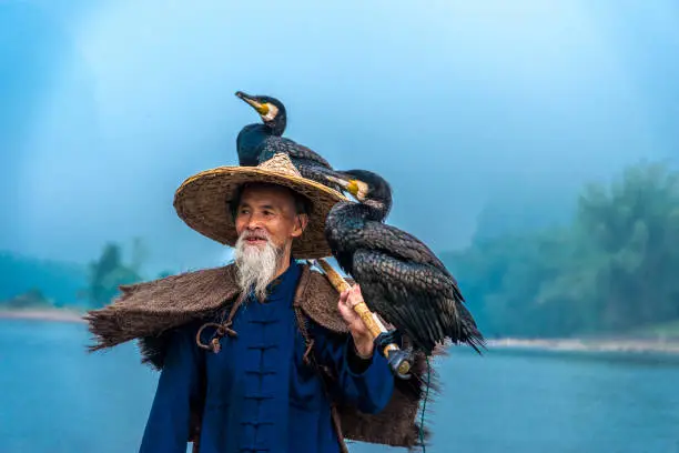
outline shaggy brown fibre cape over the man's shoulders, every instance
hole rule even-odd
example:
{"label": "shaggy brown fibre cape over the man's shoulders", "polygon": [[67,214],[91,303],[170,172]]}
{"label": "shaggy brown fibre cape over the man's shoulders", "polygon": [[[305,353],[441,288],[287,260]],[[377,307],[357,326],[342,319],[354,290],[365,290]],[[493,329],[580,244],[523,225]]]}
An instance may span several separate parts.
{"label": "shaggy brown fibre cape over the man's shoulders", "polygon": [[[142,362],[156,370],[163,368],[166,333],[171,329],[230,310],[239,295],[233,264],[123,285],[120,290],[122,294],[113,303],[84,315],[95,341],[89,349],[93,352],[136,340]],[[324,274],[303,265],[295,302],[314,322],[346,335],[337,299],[337,291]],[[409,380],[396,380],[391,402],[378,414],[338,405],[344,439],[408,449],[420,445],[417,411],[425,394],[424,383],[434,375],[424,355],[415,358],[413,374]],[[427,439],[428,430],[423,430]]]}

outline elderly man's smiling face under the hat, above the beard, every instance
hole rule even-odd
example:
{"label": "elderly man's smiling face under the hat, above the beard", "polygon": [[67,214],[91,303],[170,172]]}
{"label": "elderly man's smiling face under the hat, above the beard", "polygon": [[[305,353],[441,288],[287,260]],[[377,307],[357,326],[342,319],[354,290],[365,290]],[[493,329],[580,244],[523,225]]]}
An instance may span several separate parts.
{"label": "elderly man's smiling face under the hat, above the beard", "polygon": [[297,215],[292,194],[275,185],[247,187],[236,211],[235,228],[244,246],[262,250],[268,239],[276,249],[287,250],[302,234],[306,217]]}

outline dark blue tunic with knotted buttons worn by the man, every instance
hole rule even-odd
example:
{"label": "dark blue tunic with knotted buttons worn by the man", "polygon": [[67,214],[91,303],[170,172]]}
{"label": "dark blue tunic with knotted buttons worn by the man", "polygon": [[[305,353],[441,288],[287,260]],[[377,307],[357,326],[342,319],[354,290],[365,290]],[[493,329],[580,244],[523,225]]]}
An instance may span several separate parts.
{"label": "dark blue tunic with knotted buttons worn by the man", "polygon": [[[293,310],[300,275],[293,261],[264,303],[251,295],[233,319],[237,336],[224,336],[216,354],[196,345],[200,324],[173,332],[140,453],[185,453],[201,369],[206,375],[201,453],[340,452],[321,380],[302,359],[306,346]],[[394,389],[386,359],[375,351],[362,361],[351,335],[313,323],[311,329],[315,356],[337,375],[331,392],[363,412],[381,411]]]}

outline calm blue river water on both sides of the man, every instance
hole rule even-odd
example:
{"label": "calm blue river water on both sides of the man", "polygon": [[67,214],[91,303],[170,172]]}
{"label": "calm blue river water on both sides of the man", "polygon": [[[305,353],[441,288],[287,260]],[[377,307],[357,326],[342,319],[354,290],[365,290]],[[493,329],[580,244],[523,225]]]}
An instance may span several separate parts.
{"label": "calm blue river water on both sides of the man", "polygon": [[[0,453],[136,451],[158,374],[133,344],[88,342],[83,324],[0,320]],[[439,369],[428,453],[679,453],[677,356],[455,349]]]}

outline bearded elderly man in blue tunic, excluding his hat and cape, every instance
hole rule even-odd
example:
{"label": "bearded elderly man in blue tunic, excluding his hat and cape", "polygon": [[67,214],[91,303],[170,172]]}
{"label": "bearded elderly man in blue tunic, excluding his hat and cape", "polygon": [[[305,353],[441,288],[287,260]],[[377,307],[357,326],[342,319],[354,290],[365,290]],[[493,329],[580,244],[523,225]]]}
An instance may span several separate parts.
{"label": "bearded elderly man in blue tunic, excluding his hat and cape", "polygon": [[[292,244],[307,225],[304,198],[291,189],[250,182],[232,200],[237,242],[236,282],[244,299],[229,323],[217,354],[196,345],[199,325],[179,329],[143,436],[142,453],[184,452],[191,397],[206,372],[201,452],[338,452],[331,406],[322,383],[303,362],[304,339],[297,335],[293,298],[300,264]],[[349,331],[341,341],[315,332],[318,360],[338,371],[342,399],[363,412],[382,410],[392,395],[393,376],[351,304],[359,290],[343,293],[338,306]],[[310,372],[311,371],[311,372]]]}

